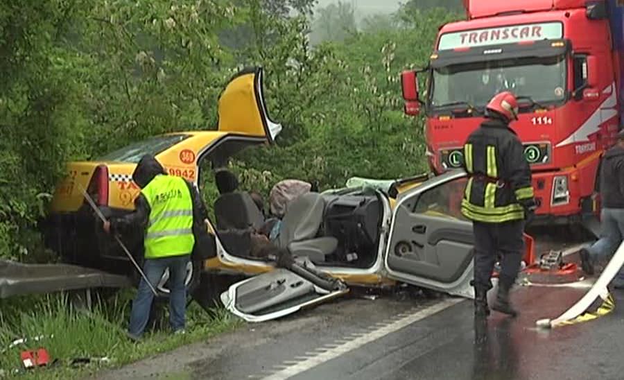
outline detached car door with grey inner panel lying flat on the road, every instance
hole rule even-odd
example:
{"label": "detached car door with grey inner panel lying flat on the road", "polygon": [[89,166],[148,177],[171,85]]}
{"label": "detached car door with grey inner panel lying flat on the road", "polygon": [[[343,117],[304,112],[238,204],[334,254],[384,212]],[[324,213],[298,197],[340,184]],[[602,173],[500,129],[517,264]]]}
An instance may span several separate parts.
{"label": "detached car door with grey inner panel lying flat on the road", "polygon": [[221,294],[225,308],[248,322],[265,322],[349,293],[343,282],[292,264],[245,279]]}

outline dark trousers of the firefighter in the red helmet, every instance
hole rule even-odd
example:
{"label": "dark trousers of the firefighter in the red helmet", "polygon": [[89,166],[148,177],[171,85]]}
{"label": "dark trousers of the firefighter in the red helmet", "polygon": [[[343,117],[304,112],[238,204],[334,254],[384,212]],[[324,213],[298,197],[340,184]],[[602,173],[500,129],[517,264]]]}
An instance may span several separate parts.
{"label": "dark trousers of the firefighter in the red helmet", "polygon": [[516,281],[524,253],[524,221],[505,223],[473,222],[474,232],[474,282],[476,288],[492,288],[492,270],[501,255],[499,281],[512,284]]}

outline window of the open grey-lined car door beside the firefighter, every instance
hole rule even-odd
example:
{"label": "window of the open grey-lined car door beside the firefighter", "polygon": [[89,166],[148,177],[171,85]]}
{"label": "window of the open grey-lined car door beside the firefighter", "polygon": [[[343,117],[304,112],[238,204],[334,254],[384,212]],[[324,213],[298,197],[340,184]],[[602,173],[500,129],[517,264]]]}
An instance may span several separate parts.
{"label": "window of the open grey-lined car door beside the firefighter", "polygon": [[424,191],[416,201],[413,212],[440,218],[467,220],[461,213],[466,182],[466,178],[458,178]]}

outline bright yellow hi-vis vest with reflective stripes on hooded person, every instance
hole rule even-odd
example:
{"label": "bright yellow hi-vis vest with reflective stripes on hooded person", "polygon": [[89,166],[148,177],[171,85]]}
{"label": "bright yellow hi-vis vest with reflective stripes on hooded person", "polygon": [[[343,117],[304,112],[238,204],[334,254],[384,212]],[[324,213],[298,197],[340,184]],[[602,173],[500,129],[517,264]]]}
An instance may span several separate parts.
{"label": "bright yellow hi-vis vest with reflective stripes on hooded person", "polygon": [[193,200],[187,183],[173,175],[157,175],[141,193],[150,205],[146,259],[191,254],[195,243]]}

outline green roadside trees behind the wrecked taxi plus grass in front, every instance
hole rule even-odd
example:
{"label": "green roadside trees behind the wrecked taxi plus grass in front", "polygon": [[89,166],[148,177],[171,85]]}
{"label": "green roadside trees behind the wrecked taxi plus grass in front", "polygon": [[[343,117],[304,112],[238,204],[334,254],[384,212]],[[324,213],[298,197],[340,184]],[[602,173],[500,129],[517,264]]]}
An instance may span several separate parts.
{"label": "green roadside trees behind the wrecked taxi plus grass in front", "polygon": [[[1,3],[0,259],[57,259],[37,222],[64,162],[214,128],[218,95],[245,66],[265,69],[268,110],[284,131],[277,146],[232,160],[243,187],[267,195],[284,178],[325,189],[354,175],[426,171],[422,119],[404,116],[399,73],[426,65],[437,27],[462,15],[460,1],[435,2],[453,11],[417,3],[364,19],[350,3],[315,10],[314,0]],[[202,191],[211,206],[216,190]],[[129,299],[91,314],[62,296],[0,301],[0,352],[16,338],[55,334],[42,345],[56,358],[121,365],[237,323],[192,306],[187,336],[157,333],[135,346],[123,336]],[[0,354],[0,369],[19,368],[21,347]]]}

